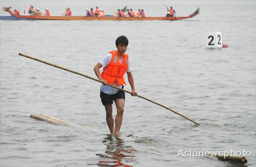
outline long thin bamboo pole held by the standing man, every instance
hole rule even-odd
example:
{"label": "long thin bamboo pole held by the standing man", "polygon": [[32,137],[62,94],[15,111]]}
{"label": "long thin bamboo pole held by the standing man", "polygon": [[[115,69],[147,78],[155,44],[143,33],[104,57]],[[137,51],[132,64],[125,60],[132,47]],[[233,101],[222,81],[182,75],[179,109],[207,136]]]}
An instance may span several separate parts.
{"label": "long thin bamboo pole held by the standing man", "polygon": [[[91,80],[95,80],[95,81],[97,81],[97,82],[101,82],[100,80],[98,80],[98,79],[96,79],[96,78],[93,78],[93,77],[90,77],[90,76],[88,76],[88,75],[85,75],[85,74],[82,74],[82,73],[78,73],[78,72],[76,72],[76,71],[73,71],[73,70],[70,70],[70,69],[67,69],[67,68],[64,68],[64,67],[61,67],[61,66],[58,66],[58,65],[49,63],[49,62],[44,61],[44,60],[40,60],[40,59],[31,57],[31,56],[28,56],[28,55],[23,54],[23,53],[19,53],[19,55],[20,55],[20,56],[23,56],[23,57],[27,57],[27,58],[29,58],[29,59],[36,60],[36,61],[40,61],[41,63],[47,64],[47,65],[49,65],[49,66],[53,66],[53,67],[60,68],[60,69],[62,69],[62,70],[65,70],[65,71],[68,71],[68,72],[71,72],[71,73],[75,73],[75,74],[81,75],[81,76],[83,76],[83,77],[89,78],[89,79],[91,79]],[[102,83],[102,82],[101,82],[101,83]],[[107,83],[106,85],[108,85],[108,86],[110,86],[110,87],[114,87],[114,88],[116,88],[116,89],[118,89],[118,90],[124,91],[124,92],[126,92],[126,93],[128,93],[128,94],[132,94],[132,92],[130,92],[130,91],[128,91],[128,90],[125,90],[125,89],[121,89],[121,88],[116,87],[116,86],[114,86],[114,85],[110,85],[110,84],[108,84],[108,83]],[[153,101],[153,100],[149,100],[149,99],[146,98],[146,97],[143,97],[143,96],[140,96],[140,95],[137,95],[137,96],[140,97],[141,99],[148,100],[148,101],[150,101],[150,102],[152,102],[152,103],[154,103],[154,104],[156,104],[156,105],[158,105],[158,106],[164,107],[164,108],[166,108],[166,109],[168,109],[168,110],[174,112],[175,114],[178,114],[178,115],[182,116],[183,118],[185,118],[185,119],[187,119],[187,120],[190,120],[190,121],[194,122],[194,123],[197,124],[197,125],[200,125],[200,124],[197,123],[195,120],[191,120],[189,117],[187,117],[187,116],[185,116],[185,115],[182,115],[182,114],[180,114],[180,113],[174,111],[173,109],[171,109],[171,108],[169,108],[169,107],[166,107],[166,106],[164,106],[164,105],[162,105],[162,104],[160,104],[160,103],[157,103],[157,102],[155,102],[155,101]]]}

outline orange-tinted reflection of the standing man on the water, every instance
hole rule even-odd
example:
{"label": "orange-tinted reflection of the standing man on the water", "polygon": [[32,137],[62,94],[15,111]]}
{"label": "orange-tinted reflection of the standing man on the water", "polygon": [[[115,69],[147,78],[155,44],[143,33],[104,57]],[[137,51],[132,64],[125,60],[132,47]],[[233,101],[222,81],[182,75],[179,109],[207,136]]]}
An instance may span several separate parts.
{"label": "orange-tinted reflection of the standing man on the water", "polygon": [[102,141],[106,145],[104,154],[96,154],[101,158],[108,160],[100,160],[97,165],[108,167],[131,167],[136,161],[134,159],[135,149],[131,146],[126,146],[125,141],[118,136],[109,134]]}

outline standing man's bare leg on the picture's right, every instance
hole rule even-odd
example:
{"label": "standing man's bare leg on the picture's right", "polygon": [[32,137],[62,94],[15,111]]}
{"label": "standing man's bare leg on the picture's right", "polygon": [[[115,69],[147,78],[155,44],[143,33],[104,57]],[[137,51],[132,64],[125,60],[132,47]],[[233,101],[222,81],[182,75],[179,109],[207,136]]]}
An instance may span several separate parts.
{"label": "standing man's bare leg on the picture's right", "polygon": [[124,112],[124,99],[116,99],[115,106],[117,114],[115,116],[115,132],[114,134],[119,134],[122,120],[123,120],[123,112]]}

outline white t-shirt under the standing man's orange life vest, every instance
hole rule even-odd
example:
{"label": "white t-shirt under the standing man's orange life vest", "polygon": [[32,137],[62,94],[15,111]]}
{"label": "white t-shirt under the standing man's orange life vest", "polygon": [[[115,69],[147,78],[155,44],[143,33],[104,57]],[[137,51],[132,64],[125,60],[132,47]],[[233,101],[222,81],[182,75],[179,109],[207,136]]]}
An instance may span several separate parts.
{"label": "white t-shirt under the standing man's orange life vest", "polygon": [[[111,53],[108,53],[106,56],[104,56],[101,60],[100,60],[100,63],[103,67],[106,67],[108,66],[108,64],[110,63],[112,59],[112,54]],[[123,62],[123,59],[122,60],[119,60],[120,64]],[[126,72],[129,73],[131,71],[131,68],[130,68],[130,60],[129,60],[129,63],[128,63],[128,68],[126,69]],[[106,68],[105,68],[105,72],[106,72]],[[115,86],[117,86],[117,83],[115,82],[114,84]],[[118,87],[122,87],[121,85],[118,86]],[[101,84],[101,91],[104,92],[105,94],[116,94],[119,90],[114,88],[114,87],[109,87],[108,85],[103,85]]]}

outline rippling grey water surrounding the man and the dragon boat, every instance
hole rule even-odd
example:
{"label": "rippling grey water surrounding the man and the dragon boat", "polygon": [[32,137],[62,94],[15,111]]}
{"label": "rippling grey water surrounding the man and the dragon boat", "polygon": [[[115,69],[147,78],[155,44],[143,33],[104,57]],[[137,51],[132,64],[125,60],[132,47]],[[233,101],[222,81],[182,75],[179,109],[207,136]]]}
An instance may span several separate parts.
{"label": "rippling grey water surrounding the man and the dragon boat", "polygon": [[[256,165],[255,1],[0,3],[20,11],[34,4],[50,8],[52,15],[65,7],[81,15],[95,5],[112,14],[128,5],[144,7],[148,16],[164,16],[167,4],[186,16],[201,7],[195,18],[179,21],[0,20],[1,167],[236,166],[216,158],[177,157],[179,149],[244,149],[252,154],[246,157],[248,166]],[[221,31],[229,48],[205,48],[209,31]],[[26,53],[95,77],[94,65],[115,49],[121,34],[129,39],[138,94],[201,126],[126,94],[121,136],[108,135],[100,83],[18,56]],[[81,127],[54,126],[29,118],[32,113]]]}

